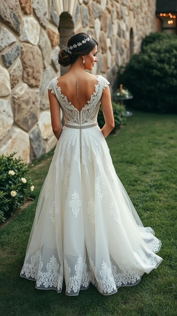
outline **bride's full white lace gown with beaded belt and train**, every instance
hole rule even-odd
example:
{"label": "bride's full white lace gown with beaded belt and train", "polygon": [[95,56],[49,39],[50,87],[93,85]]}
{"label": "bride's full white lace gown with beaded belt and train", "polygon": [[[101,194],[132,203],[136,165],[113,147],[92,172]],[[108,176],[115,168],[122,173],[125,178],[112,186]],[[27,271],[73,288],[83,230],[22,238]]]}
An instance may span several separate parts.
{"label": "bride's full white lace gown with beaded belt and train", "polygon": [[120,286],[139,283],[162,261],[161,242],[144,227],[112,164],[97,124],[103,89],[79,112],[57,86],[48,87],[60,103],[65,126],[44,181],[21,276],[38,289],[78,295],[93,283],[110,295]]}

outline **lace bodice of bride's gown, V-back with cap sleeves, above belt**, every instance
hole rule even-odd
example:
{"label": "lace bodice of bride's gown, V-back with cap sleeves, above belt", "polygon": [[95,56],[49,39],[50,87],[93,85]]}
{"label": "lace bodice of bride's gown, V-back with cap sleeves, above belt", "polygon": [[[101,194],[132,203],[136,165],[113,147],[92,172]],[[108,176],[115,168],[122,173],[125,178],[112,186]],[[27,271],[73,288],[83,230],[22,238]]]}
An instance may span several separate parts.
{"label": "lace bodice of bride's gown, V-back with cap sleeves, above belt", "polygon": [[95,91],[90,96],[90,100],[87,101],[87,104],[83,106],[80,112],[71,104],[71,102],[68,102],[67,97],[61,93],[61,88],[57,86],[57,78],[54,78],[49,82],[47,88],[52,90],[51,92],[56,95],[56,98],[60,103],[66,124],[88,125],[97,121],[102,92],[103,89],[107,87],[109,82],[100,75],[97,75],[96,80],[98,83],[95,84]]}

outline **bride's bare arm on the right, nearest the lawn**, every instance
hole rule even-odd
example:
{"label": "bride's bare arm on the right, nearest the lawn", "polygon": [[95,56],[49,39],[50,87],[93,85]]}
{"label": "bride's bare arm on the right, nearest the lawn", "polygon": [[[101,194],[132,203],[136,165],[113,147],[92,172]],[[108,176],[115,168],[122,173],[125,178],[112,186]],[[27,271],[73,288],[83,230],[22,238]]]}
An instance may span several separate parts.
{"label": "bride's bare arm on the right, nearest the lawn", "polygon": [[114,115],[111,104],[111,93],[109,86],[103,89],[101,97],[101,108],[103,111],[105,125],[101,129],[103,136],[106,138],[114,128]]}

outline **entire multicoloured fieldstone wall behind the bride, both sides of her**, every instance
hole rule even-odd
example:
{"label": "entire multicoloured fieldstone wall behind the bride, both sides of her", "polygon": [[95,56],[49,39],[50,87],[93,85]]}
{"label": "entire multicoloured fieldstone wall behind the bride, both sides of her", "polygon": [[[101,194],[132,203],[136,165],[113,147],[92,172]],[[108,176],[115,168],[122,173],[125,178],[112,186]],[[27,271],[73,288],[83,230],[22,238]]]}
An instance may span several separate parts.
{"label": "entire multicoloured fieldstone wall behind the bride, both sides of her", "polygon": [[57,54],[69,37],[86,32],[99,42],[92,73],[112,90],[130,57],[130,30],[136,53],[155,31],[155,9],[154,0],[1,0],[0,155],[30,162],[55,146],[46,86],[60,76]]}

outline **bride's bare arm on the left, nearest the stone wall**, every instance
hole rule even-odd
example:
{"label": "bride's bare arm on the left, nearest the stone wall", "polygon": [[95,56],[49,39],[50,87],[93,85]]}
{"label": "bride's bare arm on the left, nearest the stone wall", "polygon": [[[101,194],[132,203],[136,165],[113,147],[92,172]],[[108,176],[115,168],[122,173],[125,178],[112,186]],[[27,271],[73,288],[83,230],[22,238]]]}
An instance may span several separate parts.
{"label": "bride's bare arm on the left, nearest the stone wall", "polygon": [[52,129],[55,137],[59,140],[62,128],[61,128],[61,117],[60,117],[60,103],[58,102],[55,94],[48,90],[49,103],[50,103],[50,115]]}

